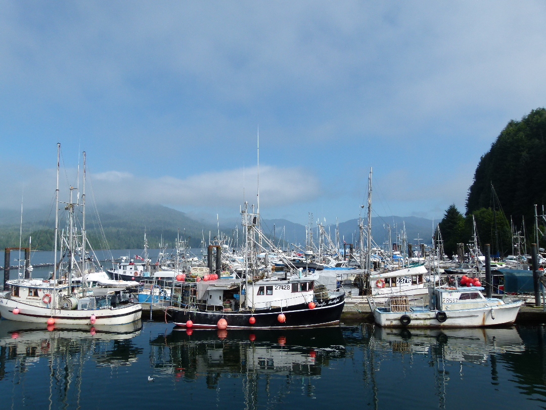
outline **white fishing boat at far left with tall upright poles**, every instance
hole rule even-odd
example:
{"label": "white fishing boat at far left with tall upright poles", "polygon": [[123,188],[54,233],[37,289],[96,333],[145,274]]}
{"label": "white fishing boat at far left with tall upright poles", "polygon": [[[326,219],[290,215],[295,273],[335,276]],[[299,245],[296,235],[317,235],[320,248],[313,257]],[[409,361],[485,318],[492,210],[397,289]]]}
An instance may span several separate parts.
{"label": "white fishing boat at far left with tall upright poles", "polygon": [[[51,279],[33,279],[30,277],[8,280],[9,291],[0,297],[0,314],[3,319],[70,325],[120,325],[139,320],[142,308],[132,303],[122,289],[88,287],[86,275],[90,273],[87,257],[87,237],[85,231],[85,152],[83,194],[78,194],[78,202],[73,202],[73,190],[70,187],[70,201],[64,203],[68,211],[66,235],[58,235],[58,200],[59,194],[59,158],[61,145],[57,144],[57,189],[55,206],[54,271]],[[82,208],[81,235],[78,234],[75,208]],[[61,240],[60,260],[57,260],[57,243]],[[76,260],[80,255],[80,260]],[[63,269],[64,257],[66,267]],[[64,276],[61,275],[64,272]]]}

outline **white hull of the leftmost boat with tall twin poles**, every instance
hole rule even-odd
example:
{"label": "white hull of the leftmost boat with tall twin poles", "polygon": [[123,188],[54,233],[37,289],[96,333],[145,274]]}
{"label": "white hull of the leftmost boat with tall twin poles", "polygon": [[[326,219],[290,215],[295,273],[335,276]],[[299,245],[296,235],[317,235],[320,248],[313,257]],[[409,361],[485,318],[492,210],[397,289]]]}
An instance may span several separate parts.
{"label": "white hull of the leftmost boat with tall twin poles", "polygon": [[[13,313],[14,308],[19,308],[18,314]],[[139,320],[142,315],[142,307],[138,303],[131,303],[109,309],[68,311],[0,298],[0,314],[3,319],[31,323],[48,323],[48,319],[53,318],[56,324],[123,325]],[[94,323],[91,323],[91,315],[95,316]]]}

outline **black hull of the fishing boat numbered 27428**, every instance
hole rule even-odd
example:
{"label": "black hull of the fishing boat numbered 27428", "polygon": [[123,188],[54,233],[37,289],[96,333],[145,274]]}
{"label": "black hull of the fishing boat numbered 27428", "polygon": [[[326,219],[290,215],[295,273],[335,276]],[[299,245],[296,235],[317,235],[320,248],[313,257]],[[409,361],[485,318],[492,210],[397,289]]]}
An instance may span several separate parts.
{"label": "black hull of the fishing boat numbered 27428", "polygon": [[[186,322],[191,320],[192,327],[196,329],[216,329],[220,319],[225,319],[227,329],[297,329],[339,324],[345,304],[345,294],[315,303],[314,309],[310,309],[307,303],[301,303],[282,309],[256,309],[254,312],[214,312],[171,308],[168,314],[171,315],[175,325],[186,327]],[[281,313],[286,317],[284,323],[278,321],[278,315]],[[249,321],[251,317],[256,319],[254,324]]]}

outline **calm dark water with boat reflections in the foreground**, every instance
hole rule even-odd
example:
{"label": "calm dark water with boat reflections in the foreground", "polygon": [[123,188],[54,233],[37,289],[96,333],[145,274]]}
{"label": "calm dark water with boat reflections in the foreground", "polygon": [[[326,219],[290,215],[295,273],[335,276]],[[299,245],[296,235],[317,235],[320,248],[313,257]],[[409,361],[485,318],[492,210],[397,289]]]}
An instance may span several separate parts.
{"label": "calm dark water with boat reflections in the foreground", "polygon": [[3,320],[0,408],[546,408],[545,336],[542,325],[188,335]]}

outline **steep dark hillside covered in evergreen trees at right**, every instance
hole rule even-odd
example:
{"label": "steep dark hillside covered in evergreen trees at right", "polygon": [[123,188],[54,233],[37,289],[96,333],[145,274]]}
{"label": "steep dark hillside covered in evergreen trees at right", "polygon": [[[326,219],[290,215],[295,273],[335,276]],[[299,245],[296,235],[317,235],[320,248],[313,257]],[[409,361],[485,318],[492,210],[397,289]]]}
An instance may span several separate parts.
{"label": "steep dark hillside covered in evergreen trees at right", "polygon": [[[440,224],[446,253],[457,243],[468,243],[473,220],[480,244],[491,244],[491,253],[512,253],[512,227],[532,241],[534,206],[538,213],[546,199],[546,109],[532,110],[521,121],[512,120],[501,131],[476,167],[468,189],[466,214],[455,205],[446,210]],[[542,243],[544,245],[544,243]]]}

